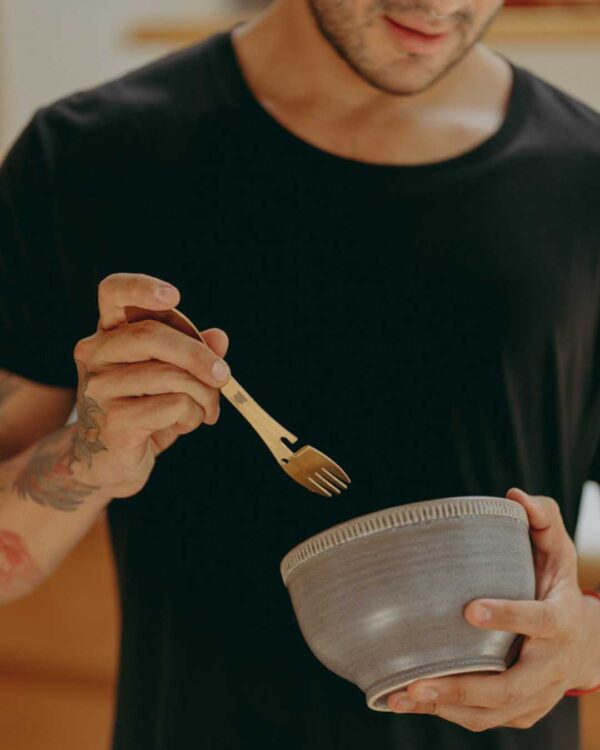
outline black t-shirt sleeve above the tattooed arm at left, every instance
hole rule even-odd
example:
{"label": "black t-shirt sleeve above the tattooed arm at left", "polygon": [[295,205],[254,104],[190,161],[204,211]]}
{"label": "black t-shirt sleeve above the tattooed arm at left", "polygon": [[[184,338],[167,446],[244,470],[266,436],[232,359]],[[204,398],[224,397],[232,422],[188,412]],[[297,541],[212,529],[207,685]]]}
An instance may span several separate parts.
{"label": "black t-shirt sleeve above the tattooed arm at left", "polygon": [[76,387],[72,274],[61,253],[52,158],[40,111],[0,167],[0,368]]}

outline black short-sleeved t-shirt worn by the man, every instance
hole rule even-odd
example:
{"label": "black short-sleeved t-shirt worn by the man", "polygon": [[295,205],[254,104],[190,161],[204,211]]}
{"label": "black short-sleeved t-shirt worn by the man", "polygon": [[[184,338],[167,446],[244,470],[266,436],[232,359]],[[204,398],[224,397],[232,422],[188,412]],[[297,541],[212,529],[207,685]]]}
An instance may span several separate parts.
{"label": "black short-sleeved t-shirt worn by the man", "polygon": [[309,651],[279,575],[334,523],[513,485],[555,497],[574,532],[600,476],[600,115],[513,72],[505,121],[472,151],[373,165],[278,124],[221,34],[40,110],[13,148],[0,366],[75,386],[98,282],[152,274],[353,480],[307,492],[224,403],[110,505],[115,750],[577,747],[573,699],[525,732],[370,711]]}

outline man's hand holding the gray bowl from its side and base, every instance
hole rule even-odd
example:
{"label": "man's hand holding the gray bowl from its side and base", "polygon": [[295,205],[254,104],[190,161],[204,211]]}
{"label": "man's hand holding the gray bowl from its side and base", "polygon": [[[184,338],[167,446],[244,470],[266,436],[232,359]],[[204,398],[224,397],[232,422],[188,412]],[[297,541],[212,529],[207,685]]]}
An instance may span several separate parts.
{"label": "man's hand holding the gray bowl from its side and base", "polygon": [[388,696],[392,711],[434,714],[474,732],[528,729],[567,690],[600,683],[600,601],[581,593],[575,545],[558,503],[516,488],[506,497],[529,517],[536,601],[477,599],[464,616],[478,628],[525,636],[518,661],[499,674],[418,680]]}

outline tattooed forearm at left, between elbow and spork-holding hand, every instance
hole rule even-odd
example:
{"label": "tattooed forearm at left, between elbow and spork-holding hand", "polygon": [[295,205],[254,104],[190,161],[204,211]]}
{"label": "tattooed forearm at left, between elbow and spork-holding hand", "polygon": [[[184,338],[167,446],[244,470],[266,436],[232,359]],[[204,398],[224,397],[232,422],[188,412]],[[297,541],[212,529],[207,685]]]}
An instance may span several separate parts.
{"label": "tattooed forearm at left, between elbow and spork-holding hand", "polygon": [[47,578],[111,500],[69,460],[75,430],[63,427],[0,462],[0,604]]}

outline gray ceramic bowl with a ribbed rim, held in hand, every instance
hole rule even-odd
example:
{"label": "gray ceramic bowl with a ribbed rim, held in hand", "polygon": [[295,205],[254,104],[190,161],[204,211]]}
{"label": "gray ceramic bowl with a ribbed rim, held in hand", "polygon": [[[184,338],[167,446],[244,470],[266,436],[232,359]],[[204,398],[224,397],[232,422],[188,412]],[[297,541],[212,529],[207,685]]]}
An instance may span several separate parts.
{"label": "gray ceramic bowl with a ribbed rim, held in hand", "polygon": [[463,608],[535,598],[527,514],[495,497],[354,518],[294,547],[281,575],[314,655],[376,711],[417,679],[505,670],[515,635],[469,625]]}

